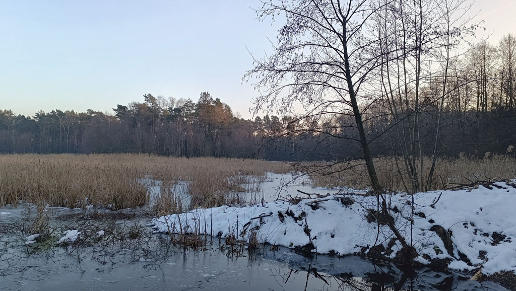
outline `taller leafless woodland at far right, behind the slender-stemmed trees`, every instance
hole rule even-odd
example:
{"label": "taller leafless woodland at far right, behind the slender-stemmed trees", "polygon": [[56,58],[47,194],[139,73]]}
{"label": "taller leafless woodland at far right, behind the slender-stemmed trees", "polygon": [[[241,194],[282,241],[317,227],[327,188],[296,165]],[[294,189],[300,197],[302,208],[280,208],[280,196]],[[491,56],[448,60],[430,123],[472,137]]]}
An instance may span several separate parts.
{"label": "taller leafless woodland at far right, behind the slender-stemmed trees", "polygon": [[[366,114],[369,123],[384,128],[380,139],[393,153],[415,143],[419,153],[414,155],[506,154],[516,145],[516,37],[508,34],[496,45],[483,41],[463,55],[450,54],[440,69],[421,69],[419,87],[417,82],[396,87],[403,75],[396,76],[395,68],[403,64],[390,62],[393,69],[381,70],[383,91]],[[400,137],[411,132],[411,139]]]}

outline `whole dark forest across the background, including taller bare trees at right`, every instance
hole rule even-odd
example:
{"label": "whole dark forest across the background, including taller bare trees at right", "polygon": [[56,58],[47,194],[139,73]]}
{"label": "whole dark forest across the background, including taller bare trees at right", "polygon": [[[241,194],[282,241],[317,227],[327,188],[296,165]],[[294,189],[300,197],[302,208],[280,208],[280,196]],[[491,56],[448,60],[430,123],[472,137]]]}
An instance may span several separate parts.
{"label": "whole dark forest across the background, including taller bare trees at right", "polygon": [[[448,70],[444,99],[442,77],[425,79],[420,92],[422,130],[417,142],[428,145],[421,154],[432,155],[436,132],[444,156],[510,152],[509,146],[516,145],[514,36],[497,46],[474,46],[451,61]],[[399,150],[392,142],[396,133],[390,104],[387,96],[379,96],[363,109],[375,156]],[[53,110],[34,116],[0,110],[0,153],[146,153],[289,161],[361,157],[356,125],[347,109],[312,118],[266,115],[246,120],[202,92],[197,102],[146,94],[142,102],[113,110],[113,115]]]}

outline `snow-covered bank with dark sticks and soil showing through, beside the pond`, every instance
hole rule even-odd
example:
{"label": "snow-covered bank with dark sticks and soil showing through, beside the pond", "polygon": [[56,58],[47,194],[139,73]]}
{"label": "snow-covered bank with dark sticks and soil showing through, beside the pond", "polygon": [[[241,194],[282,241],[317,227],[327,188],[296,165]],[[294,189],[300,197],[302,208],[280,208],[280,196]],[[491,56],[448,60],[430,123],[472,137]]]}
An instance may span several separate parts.
{"label": "snow-covered bank with dark sticks and soil showing through, beside the pond", "polygon": [[[156,232],[163,233],[169,230],[179,233],[180,229],[191,232],[197,225],[201,233],[220,235],[222,238],[235,233],[244,240],[249,239],[249,230],[254,228],[262,243],[286,247],[312,243],[315,247],[313,252],[338,255],[360,252],[363,247],[380,244],[388,248],[389,241],[394,238],[386,225],[378,227],[376,222],[369,223],[365,218],[368,213],[366,209],[377,209],[375,196],[362,196],[350,189],[345,189],[344,195],[341,194],[342,189],[338,193],[335,189],[289,185],[281,190],[280,197],[294,196],[296,189],[331,195],[304,199],[297,204],[272,201],[278,197],[277,186],[282,183],[273,180],[262,188],[262,197],[268,201],[264,206],[193,209],[180,215],[154,218],[151,225]],[[452,261],[449,265],[451,269],[472,270],[481,267],[482,272],[489,275],[498,271],[516,271],[514,187],[513,183],[499,182],[492,189],[480,186],[471,190],[398,194],[386,196],[386,203],[389,208],[395,209],[391,215],[398,230],[420,254],[418,261],[427,264],[429,260],[424,257],[449,258]],[[343,201],[350,201],[347,199],[352,199],[353,204],[345,205],[348,203]],[[430,207],[438,199],[434,208]],[[447,253],[439,235],[430,230],[433,225],[440,225],[450,233],[454,243],[452,255]],[[401,245],[396,240],[389,256],[394,257],[400,249]],[[459,252],[467,256],[471,263],[461,261]],[[484,252],[485,257],[481,255]]]}

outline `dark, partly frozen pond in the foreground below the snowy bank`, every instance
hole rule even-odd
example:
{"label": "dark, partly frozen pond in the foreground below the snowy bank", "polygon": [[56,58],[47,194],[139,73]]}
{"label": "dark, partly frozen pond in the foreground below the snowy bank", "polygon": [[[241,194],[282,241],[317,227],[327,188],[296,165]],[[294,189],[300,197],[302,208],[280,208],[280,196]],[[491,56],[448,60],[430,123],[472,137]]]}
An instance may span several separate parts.
{"label": "dark, partly frozen pond in the foreground below the snowy bank", "polygon": [[[144,227],[151,218],[138,209],[50,212],[55,238],[26,245],[35,211],[0,208],[0,290],[504,290],[460,273],[422,269],[408,276],[360,257],[307,257],[288,248],[270,250],[270,245],[237,256],[220,250],[218,238],[213,244],[207,238],[203,250],[183,249],[170,244],[168,235]],[[56,246],[70,229],[82,234]],[[93,237],[100,229],[106,234]]]}

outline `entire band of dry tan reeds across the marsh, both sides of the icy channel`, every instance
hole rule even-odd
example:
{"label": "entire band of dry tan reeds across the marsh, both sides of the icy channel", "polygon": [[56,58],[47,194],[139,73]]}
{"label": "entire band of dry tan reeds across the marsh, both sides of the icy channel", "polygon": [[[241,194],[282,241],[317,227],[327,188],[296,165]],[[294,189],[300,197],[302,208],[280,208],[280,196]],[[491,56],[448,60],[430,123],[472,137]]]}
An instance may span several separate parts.
{"label": "entire band of dry tan reeds across the marsh, both sides of the icy channel", "polygon": [[[398,163],[398,165],[396,165]],[[429,159],[423,169],[428,171]],[[381,183],[392,190],[405,191],[409,183],[403,161],[375,159]],[[369,186],[365,166],[357,162],[339,164],[311,173],[313,186],[363,189]],[[214,207],[241,203],[239,192],[260,191],[266,172],[287,173],[285,163],[228,158],[172,158],[162,156],[107,155],[0,155],[0,206],[16,205],[21,200],[51,206],[137,207],[149,202],[149,195],[138,179],[161,181],[162,192],[153,212],[156,215],[180,213],[192,207]],[[489,179],[514,179],[516,159],[511,156],[486,156],[483,159],[461,157],[439,159],[432,190],[454,183]],[[174,188],[187,181],[182,190]],[[179,192],[178,192],[179,191]],[[186,191],[183,193],[182,191]],[[190,203],[182,197],[189,194]]]}

